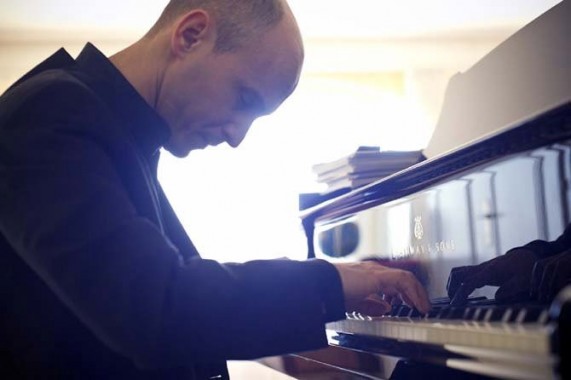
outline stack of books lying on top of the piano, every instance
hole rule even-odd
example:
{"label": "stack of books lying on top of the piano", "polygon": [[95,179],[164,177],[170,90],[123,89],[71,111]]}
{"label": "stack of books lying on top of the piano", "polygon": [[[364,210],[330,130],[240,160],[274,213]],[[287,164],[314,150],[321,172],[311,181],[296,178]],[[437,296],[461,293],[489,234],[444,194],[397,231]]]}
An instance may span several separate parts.
{"label": "stack of books lying on top of the piano", "polygon": [[382,151],[379,147],[360,147],[338,160],[312,167],[317,181],[327,185],[326,193],[355,189],[379,180],[424,160],[422,152]]}

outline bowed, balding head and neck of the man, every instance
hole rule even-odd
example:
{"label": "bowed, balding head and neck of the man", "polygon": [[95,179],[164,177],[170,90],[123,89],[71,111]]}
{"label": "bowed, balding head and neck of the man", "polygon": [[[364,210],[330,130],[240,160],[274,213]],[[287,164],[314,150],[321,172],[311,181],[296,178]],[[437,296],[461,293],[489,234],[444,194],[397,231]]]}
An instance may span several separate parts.
{"label": "bowed, balding head and neck of the man", "polygon": [[293,92],[303,55],[285,0],[171,0],[145,38],[111,60],[168,123],[165,148],[184,157],[237,147]]}

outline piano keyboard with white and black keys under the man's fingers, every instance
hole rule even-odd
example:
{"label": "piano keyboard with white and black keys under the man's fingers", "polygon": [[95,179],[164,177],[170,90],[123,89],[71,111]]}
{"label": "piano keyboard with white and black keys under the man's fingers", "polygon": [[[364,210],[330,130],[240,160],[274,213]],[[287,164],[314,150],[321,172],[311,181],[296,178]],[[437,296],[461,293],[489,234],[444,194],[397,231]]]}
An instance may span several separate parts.
{"label": "piano keyboard with white and black keys under the man's fingers", "polygon": [[347,319],[327,325],[342,334],[523,354],[549,354],[553,328],[544,306],[502,306],[487,300],[464,307],[437,304],[426,316],[406,305],[381,317],[348,313]]}

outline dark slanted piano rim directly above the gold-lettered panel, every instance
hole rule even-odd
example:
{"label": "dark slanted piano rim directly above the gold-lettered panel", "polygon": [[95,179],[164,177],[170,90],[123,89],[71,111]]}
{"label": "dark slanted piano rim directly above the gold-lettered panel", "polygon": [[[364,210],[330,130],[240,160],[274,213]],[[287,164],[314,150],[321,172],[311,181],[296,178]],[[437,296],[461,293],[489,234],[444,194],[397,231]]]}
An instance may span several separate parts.
{"label": "dark slanted piano rim directly above the gold-lettered panel", "polygon": [[470,169],[535,148],[571,139],[571,101],[500,132],[420,162],[300,213],[304,225],[332,219],[416,193]]}

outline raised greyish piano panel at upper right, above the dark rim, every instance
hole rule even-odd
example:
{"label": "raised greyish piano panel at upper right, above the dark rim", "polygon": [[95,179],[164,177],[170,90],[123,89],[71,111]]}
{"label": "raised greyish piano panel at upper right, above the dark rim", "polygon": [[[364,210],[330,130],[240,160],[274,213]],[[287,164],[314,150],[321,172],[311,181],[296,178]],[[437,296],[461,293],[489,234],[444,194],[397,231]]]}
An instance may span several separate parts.
{"label": "raised greyish piano panel at upper right, above the dark rim", "polygon": [[441,155],[569,102],[569,20],[571,2],[564,0],[454,75],[424,155]]}

